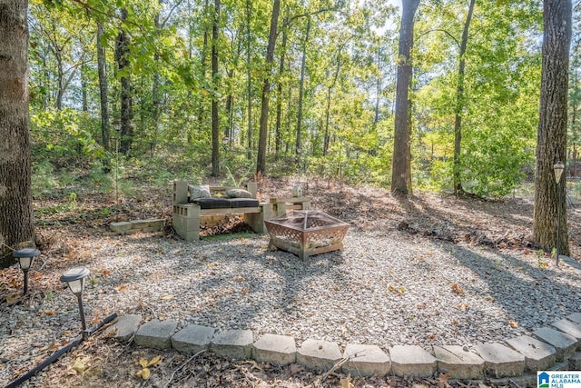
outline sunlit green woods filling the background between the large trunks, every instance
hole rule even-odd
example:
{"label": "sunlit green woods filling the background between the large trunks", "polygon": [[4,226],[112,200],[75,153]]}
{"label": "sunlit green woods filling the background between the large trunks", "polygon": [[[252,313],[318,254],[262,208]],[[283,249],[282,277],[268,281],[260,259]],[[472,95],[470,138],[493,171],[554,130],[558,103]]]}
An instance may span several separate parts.
{"label": "sunlit green woods filling the background between the large trunks", "polygon": [[[261,171],[387,186],[399,17],[378,2],[34,0],[33,170],[83,166],[99,180],[147,164],[156,179]],[[464,190],[500,196],[532,179],[542,17],[533,0],[420,2],[414,187],[452,191],[457,174]],[[576,7],[574,20],[567,136],[570,174],[581,174]]]}

